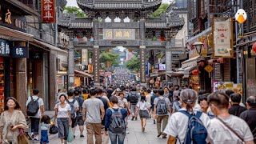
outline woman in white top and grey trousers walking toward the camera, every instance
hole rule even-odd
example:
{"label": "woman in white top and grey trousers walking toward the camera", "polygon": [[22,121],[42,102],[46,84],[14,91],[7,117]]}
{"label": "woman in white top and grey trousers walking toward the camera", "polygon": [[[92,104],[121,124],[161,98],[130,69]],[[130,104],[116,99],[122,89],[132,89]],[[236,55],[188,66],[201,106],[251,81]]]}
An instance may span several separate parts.
{"label": "woman in white top and grey trousers walking toward the camera", "polygon": [[66,102],[67,95],[61,93],[59,95],[59,103],[55,106],[54,123],[58,124],[58,138],[61,139],[62,144],[66,143],[67,136],[69,134],[69,126],[72,126],[70,118],[71,107]]}

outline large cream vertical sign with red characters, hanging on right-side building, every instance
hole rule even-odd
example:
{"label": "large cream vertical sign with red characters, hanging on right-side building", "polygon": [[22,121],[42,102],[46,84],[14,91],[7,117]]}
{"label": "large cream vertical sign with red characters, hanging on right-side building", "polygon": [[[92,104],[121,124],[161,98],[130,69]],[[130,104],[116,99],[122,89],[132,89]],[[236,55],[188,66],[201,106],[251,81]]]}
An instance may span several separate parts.
{"label": "large cream vertical sign with red characters, hanging on right-side building", "polygon": [[232,19],[214,18],[214,57],[233,57]]}

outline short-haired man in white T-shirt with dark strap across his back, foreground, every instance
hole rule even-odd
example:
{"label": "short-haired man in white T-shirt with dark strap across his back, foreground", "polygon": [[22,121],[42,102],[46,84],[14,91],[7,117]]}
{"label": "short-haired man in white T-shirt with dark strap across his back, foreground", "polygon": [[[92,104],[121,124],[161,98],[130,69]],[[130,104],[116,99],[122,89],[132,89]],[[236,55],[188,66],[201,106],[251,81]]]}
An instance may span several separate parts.
{"label": "short-haired man in white T-shirt with dark strap across his back, foreground", "polygon": [[208,133],[210,143],[246,143],[253,144],[254,137],[247,123],[234,115],[229,114],[229,97],[220,92],[208,96],[210,109],[216,115],[210,120]]}

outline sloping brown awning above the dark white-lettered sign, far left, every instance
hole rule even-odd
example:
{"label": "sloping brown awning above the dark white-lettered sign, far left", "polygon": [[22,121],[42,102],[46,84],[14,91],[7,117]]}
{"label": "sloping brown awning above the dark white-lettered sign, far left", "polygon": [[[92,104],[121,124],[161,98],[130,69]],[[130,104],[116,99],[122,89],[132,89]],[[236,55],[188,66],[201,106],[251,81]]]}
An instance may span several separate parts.
{"label": "sloping brown awning above the dark white-lettered sign, far left", "polygon": [[13,30],[5,26],[0,26],[0,34],[10,37],[13,41],[33,41],[33,35],[26,34],[22,31]]}

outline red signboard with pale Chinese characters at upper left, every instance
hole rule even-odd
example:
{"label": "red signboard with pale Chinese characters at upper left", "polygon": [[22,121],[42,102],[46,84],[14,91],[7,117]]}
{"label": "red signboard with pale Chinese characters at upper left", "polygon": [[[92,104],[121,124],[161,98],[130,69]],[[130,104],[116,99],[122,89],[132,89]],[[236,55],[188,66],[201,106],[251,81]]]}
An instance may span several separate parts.
{"label": "red signboard with pale Chinese characters at upper left", "polygon": [[42,0],[42,22],[55,22],[55,0]]}

